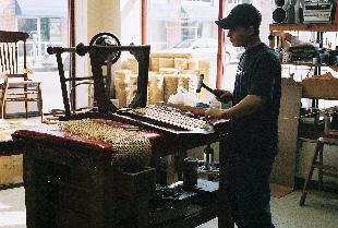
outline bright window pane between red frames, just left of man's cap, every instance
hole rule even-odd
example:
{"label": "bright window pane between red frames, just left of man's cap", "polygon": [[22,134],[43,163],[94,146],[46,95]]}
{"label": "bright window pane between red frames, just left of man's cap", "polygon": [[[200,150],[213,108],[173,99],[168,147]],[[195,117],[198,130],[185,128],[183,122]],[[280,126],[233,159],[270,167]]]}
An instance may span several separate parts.
{"label": "bright window pane between red frames, just left of man's cap", "polygon": [[218,0],[149,0],[152,51],[192,53],[208,64],[206,83],[216,82]]}

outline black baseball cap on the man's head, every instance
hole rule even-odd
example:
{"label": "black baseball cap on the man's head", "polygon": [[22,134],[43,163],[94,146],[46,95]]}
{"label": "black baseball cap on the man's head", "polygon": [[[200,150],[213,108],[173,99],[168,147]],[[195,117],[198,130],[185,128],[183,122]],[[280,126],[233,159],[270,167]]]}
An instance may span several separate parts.
{"label": "black baseball cap on the man's head", "polygon": [[259,27],[262,15],[259,11],[252,4],[238,4],[229,13],[227,17],[216,21],[215,23],[224,29],[231,29],[238,26]]}

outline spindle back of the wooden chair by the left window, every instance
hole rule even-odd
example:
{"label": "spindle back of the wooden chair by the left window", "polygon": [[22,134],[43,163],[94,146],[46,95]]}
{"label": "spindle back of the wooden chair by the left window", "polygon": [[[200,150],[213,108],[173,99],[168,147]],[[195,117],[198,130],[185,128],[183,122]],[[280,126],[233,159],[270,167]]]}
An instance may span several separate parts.
{"label": "spindle back of the wooden chair by the left window", "polygon": [[[0,31],[0,72],[5,74],[24,74],[26,77],[26,40],[29,37],[24,32]],[[23,69],[19,69],[19,43],[23,41]],[[24,70],[24,72],[21,72]]]}

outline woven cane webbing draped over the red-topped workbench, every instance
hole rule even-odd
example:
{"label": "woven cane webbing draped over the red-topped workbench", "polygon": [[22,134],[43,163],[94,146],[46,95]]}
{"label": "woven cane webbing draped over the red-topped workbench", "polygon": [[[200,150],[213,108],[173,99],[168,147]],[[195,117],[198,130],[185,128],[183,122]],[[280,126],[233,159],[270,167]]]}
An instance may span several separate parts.
{"label": "woven cane webbing draped over the red-topped workbench", "polygon": [[88,140],[111,144],[112,165],[118,167],[143,167],[150,159],[149,140],[137,131],[109,125],[89,119],[70,120],[60,124],[61,129]]}

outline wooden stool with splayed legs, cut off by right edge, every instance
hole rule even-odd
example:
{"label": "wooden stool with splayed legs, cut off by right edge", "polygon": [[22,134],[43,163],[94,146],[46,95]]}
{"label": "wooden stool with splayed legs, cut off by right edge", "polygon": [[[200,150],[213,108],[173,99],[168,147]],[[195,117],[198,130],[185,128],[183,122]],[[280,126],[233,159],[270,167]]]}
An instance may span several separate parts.
{"label": "wooden stool with splayed legs, cut off by right edge", "polygon": [[300,201],[300,206],[303,206],[305,203],[305,199],[307,195],[307,184],[312,179],[312,175],[314,171],[314,168],[318,169],[318,189],[322,191],[323,185],[323,176],[329,176],[329,177],[336,177],[338,178],[338,167],[328,166],[323,164],[323,148],[324,145],[338,145],[338,137],[319,137],[317,140],[317,145],[315,148],[314,156],[312,158],[311,167],[309,170],[307,179],[305,180],[304,187],[303,187],[303,193]]}

